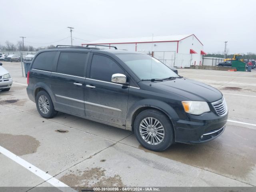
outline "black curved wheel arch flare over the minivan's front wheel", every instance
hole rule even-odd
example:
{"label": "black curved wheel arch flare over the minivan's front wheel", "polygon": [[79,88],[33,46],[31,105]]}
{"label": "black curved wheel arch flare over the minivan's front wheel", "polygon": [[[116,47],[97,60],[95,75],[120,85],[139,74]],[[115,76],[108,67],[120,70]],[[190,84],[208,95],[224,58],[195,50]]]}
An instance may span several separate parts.
{"label": "black curved wheel arch flare over the minivan's front wheel", "polygon": [[136,111],[143,107],[150,107],[158,109],[162,112],[164,112],[172,121],[173,118],[178,118],[178,114],[176,111],[166,102],[155,100],[155,99],[142,99],[130,106],[128,108],[127,112],[127,118],[126,118],[126,127],[132,128],[132,123],[134,118],[134,114],[136,114]]}

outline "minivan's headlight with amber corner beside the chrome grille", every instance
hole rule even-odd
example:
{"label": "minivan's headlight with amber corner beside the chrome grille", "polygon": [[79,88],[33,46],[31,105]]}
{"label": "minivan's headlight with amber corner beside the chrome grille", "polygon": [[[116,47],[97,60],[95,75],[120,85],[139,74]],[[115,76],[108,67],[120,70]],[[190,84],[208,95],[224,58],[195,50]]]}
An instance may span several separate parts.
{"label": "minivan's headlight with amber corner beside the chrome grille", "polygon": [[182,101],[185,112],[200,115],[210,111],[209,105],[205,101]]}

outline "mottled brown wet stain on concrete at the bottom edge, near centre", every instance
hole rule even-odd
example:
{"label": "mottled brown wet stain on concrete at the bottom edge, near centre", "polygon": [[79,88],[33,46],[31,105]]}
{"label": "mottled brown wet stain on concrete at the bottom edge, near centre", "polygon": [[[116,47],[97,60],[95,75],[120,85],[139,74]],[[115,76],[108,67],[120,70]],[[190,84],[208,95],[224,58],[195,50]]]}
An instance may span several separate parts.
{"label": "mottled brown wet stain on concrete at the bottom edge, near centre", "polygon": [[[71,170],[70,170],[71,171]],[[124,186],[119,175],[113,177],[105,175],[106,170],[100,167],[91,168],[82,171],[76,170],[76,173],[64,175],[60,181],[71,187],[107,187]]]}

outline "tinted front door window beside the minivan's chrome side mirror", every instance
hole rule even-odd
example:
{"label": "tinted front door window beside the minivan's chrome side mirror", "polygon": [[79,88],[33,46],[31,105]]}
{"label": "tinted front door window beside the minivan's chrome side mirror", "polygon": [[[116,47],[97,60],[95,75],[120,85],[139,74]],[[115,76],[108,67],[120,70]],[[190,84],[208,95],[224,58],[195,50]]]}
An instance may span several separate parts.
{"label": "tinted front door window beside the minivan's chrome side mirror", "polygon": [[112,74],[115,73],[124,74],[124,70],[108,57],[101,55],[93,56],[90,78],[111,82]]}

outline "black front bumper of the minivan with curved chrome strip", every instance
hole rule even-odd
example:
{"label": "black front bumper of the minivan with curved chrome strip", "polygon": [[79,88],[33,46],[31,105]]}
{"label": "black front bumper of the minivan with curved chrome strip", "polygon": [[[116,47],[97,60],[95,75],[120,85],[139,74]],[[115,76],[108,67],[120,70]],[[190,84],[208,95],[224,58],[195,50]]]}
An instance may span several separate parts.
{"label": "black front bumper of the minivan with curved chrome strip", "polygon": [[190,121],[173,119],[175,142],[194,144],[213,140],[224,132],[227,120],[228,113],[218,116],[214,112],[190,115]]}

